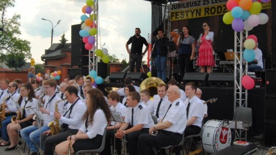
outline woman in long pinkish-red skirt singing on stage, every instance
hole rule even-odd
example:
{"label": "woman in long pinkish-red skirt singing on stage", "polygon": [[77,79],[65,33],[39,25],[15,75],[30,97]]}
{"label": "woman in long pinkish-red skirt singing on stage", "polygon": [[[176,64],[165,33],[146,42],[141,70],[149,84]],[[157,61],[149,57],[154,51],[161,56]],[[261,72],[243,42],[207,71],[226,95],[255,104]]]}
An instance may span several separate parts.
{"label": "woman in long pinkish-red skirt singing on stage", "polygon": [[212,67],[215,66],[215,60],[213,56],[213,39],[214,32],[210,31],[210,25],[206,22],[202,24],[202,33],[200,34],[198,44],[198,61],[197,66],[200,66],[200,72],[205,72],[205,68],[207,68],[207,72],[212,72]]}

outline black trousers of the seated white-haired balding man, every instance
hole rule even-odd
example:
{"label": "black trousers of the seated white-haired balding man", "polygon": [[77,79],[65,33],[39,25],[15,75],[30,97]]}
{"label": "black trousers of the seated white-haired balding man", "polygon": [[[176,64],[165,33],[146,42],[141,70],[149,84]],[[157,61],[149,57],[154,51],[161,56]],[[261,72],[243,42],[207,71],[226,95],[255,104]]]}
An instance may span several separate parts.
{"label": "black trousers of the seated white-haired balding man", "polygon": [[159,131],[156,136],[150,135],[149,133],[141,134],[138,142],[139,155],[154,154],[153,147],[177,145],[181,140],[181,134],[164,130]]}

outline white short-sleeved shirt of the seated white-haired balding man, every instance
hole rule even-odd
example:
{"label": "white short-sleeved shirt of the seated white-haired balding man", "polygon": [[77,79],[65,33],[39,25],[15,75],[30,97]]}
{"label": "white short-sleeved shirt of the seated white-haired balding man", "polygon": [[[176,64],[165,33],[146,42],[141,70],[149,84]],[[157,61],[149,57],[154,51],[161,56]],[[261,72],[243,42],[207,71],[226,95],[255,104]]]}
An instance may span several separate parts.
{"label": "white short-sleeved shirt of the seated white-haired balding man", "polygon": [[187,118],[186,107],[183,104],[181,98],[178,98],[175,101],[173,101],[171,108],[167,111],[167,115],[164,117],[163,122],[169,121],[173,123],[173,125],[171,125],[168,128],[165,128],[164,130],[182,134],[186,128]]}

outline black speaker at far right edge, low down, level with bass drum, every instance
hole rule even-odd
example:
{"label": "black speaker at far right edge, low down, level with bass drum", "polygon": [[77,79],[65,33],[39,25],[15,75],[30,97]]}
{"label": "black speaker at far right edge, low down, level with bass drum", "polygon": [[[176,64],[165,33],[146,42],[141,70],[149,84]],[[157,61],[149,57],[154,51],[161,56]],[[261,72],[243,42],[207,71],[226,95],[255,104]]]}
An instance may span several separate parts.
{"label": "black speaker at far right edge, low down, level with bass drum", "polygon": [[275,146],[276,144],[276,122],[265,121],[265,145]]}

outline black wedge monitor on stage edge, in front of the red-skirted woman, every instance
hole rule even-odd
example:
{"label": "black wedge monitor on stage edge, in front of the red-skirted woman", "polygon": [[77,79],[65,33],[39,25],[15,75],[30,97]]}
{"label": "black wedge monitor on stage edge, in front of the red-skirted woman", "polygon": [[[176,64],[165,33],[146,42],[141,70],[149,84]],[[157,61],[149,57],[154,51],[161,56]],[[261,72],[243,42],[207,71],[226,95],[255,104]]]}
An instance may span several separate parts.
{"label": "black wedge monitor on stage edge, in front of the red-skirted woman", "polygon": [[198,87],[206,87],[209,73],[205,72],[186,72],[183,77],[184,84],[194,82]]}

